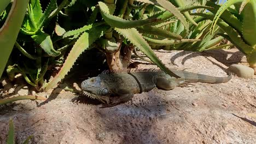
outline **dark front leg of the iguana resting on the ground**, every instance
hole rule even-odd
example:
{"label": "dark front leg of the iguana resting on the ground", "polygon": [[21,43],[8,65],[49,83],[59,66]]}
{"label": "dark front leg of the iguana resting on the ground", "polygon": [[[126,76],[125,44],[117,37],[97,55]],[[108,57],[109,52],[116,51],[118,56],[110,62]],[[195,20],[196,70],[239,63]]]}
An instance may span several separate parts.
{"label": "dark front leg of the iguana resting on the ground", "polygon": [[102,105],[101,108],[112,107],[119,104],[123,104],[123,103],[126,103],[127,101],[130,101],[133,98],[133,93],[125,89],[120,89],[116,94],[117,94],[116,97],[109,98],[109,104]]}

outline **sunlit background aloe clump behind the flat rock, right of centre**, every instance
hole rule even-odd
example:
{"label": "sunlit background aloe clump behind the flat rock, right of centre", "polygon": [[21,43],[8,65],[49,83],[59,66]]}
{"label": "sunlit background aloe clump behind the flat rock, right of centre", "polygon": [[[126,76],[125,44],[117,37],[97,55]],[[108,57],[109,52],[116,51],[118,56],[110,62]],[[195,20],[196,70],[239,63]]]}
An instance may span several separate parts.
{"label": "sunlit background aloe clump behind the flat rock, right of centre", "polygon": [[[206,2],[201,1],[202,5],[205,5]],[[198,5],[198,4],[195,4]],[[198,7],[205,9],[194,10],[196,13],[207,13],[207,9],[213,9],[212,7]],[[207,9],[206,9],[207,8]],[[183,11],[183,9],[181,9]],[[156,11],[156,15],[153,17],[161,17],[160,14],[165,13],[167,15],[168,11]],[[165,16],[163,15],[163,16]],[[193,15],[193,13],[192,13]],[[172,33],[181,35],[183,40],[168,40],[165,37],[155,37],[155,35],[144,35],[144,38],[152,45],[153,49],[165,49],[165,50],[190,50],[190,51],[206,51],[213,49],[222,49],[226,46],[232,46],[232,44],[219,45],[220,41],[224,39],[222,36],[216,37],[216,34],[220,31],[219,27],[214,29],[214,33],[209,32],[211,26],[210,20],[202,21],[201,17],[193,17],[193,21],[198,23],[198,25],[193,25],[190,23],[189,30],[190,33],[187,34],[184,26],[180,21],[177,21],[175,17],[172,19],[173,22],[160,23],[158,27],[166,29]]]}

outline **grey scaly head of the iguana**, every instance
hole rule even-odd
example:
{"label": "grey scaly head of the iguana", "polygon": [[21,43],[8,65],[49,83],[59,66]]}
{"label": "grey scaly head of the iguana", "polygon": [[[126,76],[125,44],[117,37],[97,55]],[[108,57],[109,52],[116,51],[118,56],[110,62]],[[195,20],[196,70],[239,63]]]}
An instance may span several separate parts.
{"label": "grey scaly head of the iguana", "polygon": [[98,76],[84,80],[81,83],[81,88],[83,91],[98,95],[106,95],[109,93],[108,89],[104,87],[101,78]]}

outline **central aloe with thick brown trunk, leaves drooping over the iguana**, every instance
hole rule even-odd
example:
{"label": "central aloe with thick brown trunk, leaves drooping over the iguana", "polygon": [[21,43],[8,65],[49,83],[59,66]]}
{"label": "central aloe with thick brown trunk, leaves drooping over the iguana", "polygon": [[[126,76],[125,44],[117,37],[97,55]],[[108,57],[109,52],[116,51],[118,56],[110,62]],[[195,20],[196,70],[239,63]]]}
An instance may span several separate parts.
{"label": "central aloe with thick brown trunk, leaves drooping over the iguana", "polygon": [[[79,2],[79,1],[78,1]],[[181,4],[181,3],[179,3]],[[182,5],[182,4],[181,4]],[[201,6],[197,7],[184,7],[183,12],[195,9],[202,8]],[[151,9],[151,10],[150,10]],[[162,16],[161,19],[158,18],[148,18],[150,11],[154,9],[165,9],[168,11]],[[146,10],[147,13],[145,13]],[[99,11],[99,12],[98,12]],[[101,15],[103,21],[97,19],[97,13]],[[171,2],[165,0],[158,1],[104,1],[98,2],[97,5],[94,5],[92,9],[92,16],[89,17],[88,24],[82,28],[75,29],[74,31],[63,31],[63,28],[60,32],[62,38],[67,37],[78,37],[77,41],[73,45],[71,51],[69,52],[65,63],[63,64],[59,73],[48,83],[45,83],[43,89],[47,91],[50,88],[56,86],[57,82],[62,80],[68,71],[72,68],[74,62],[79,57],[79,55],[90,49],[91,45],[97,40],[97,43],[100,43],[100,49],[106,53],[107,62],[110,70],[114,69],[126,69],[127,63],[129,60],[120,59],[120,57],[130,57],[130,53],[134,47],[138,47],[145,55],[147,55],[151,61],[153,61],[158,67],[162,70],[165,70],[168,74],[176,76],[164,64],[156,57],[155,53],[152,51],[151,47],[148,45],[147,41],[142,37],[141,33],[150,33],[154,35],[159,35],[162,37],[167,37],[170,39],[182,40],[181,35],[173,34],[165,29],[155,27],[159,23],[166,22],[170,20],[171,17],[176,16],[185,29],[188,31],[188,22],[185,17]],[[185,14],[188,17],[188,14]],[[193,19],[188,19],[193,20]],[[95,23],[97,21],[97,23]],[[91,24],[92,22],[92,24]],[[193,22],[195,23],[195,22]],[[64,28],[65,29],[65,28]],[[122,45],[123,44],[123,45]],[[123,47],[122,47],[123,46]],[[121,49],[126,49],[129,53],[125,56],[120,56]],[[114,54],[113,54],[114,53]],[[113,57],[115,62],[112,63]],[[121,67],[119,66],[121,65]]]}

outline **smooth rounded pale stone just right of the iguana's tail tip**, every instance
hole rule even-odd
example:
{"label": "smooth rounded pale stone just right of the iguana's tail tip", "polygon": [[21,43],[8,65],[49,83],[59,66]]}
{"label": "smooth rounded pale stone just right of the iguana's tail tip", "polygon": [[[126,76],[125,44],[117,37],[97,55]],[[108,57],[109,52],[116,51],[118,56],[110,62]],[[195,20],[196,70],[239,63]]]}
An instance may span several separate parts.
{"label": "smooth rounded pale stone just right of the iguana's tail tip", "polygon": [[252,68],[241,64],[232,64],[228,70],[245,79],[252,79],[254,75],[254,70]]}

